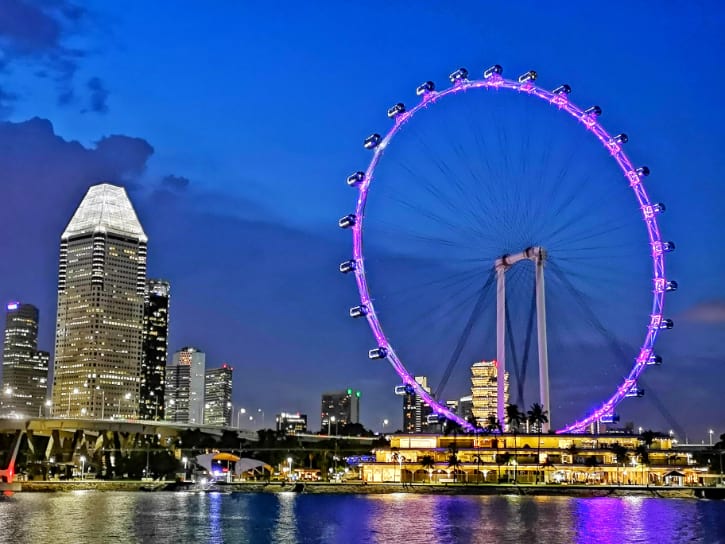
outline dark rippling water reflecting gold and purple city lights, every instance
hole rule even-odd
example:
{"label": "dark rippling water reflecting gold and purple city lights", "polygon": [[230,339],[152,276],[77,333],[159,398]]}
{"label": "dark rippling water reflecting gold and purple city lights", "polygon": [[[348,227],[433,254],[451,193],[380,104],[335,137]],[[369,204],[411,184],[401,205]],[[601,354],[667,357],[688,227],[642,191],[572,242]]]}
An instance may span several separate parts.
{"label": "dark rippling water reflecting gold and purple city lights", "polygon": [[0,499],[0,542],[725,544],[725,502],[123,493]]}

